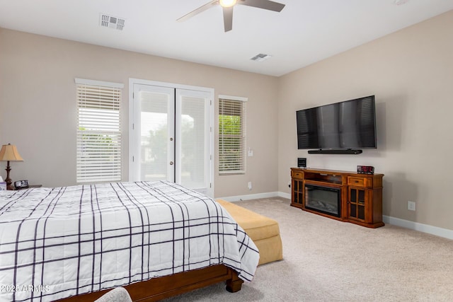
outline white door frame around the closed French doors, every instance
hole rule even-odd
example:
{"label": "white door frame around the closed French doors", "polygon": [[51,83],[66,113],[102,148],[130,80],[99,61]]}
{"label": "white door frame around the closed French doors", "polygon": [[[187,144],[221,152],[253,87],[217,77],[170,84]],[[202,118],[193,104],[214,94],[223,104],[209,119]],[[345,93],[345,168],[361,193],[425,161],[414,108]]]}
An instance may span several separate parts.
{"label": "white door frame around the closed French doors", "polygon": [[209,171],[210,175],[208,175],[210,185],[207,186],[207,196],[214,197],[214,88],[207,88],[207,87],[200,87],[200,86],[189,86],[177,83],[167,83],[161,81],[149,81],[144,79],[134,79],[129,78],[129,120],[127,123],[127,129],[129,131],[129,140],[127,146],[127,154],[128,154],[128,175],[127,179],[132,181],[130,175],[132,175],[132,168],[134,168],[134,153],[131,152],[132,147],[134,146],[134,141],[137,139],[137,133],[134,132],[134,84],[142,84],[142,85],[149,85],[149,86],[161,86],[166,88],[173,88],[173,89],[185,89],[185,90],[192,90],[192,91],[202,91],[209,93],[210,95],[210,162],[209,162]]}

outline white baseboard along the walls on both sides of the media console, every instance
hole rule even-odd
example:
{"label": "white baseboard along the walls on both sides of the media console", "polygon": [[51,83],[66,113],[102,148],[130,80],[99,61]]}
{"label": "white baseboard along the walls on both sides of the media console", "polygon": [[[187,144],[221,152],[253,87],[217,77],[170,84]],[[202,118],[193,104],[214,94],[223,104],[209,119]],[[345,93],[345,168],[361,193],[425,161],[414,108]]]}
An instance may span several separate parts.
{"label": "white baseboard along the walls on both sides of the media console", "polygon": [[[221,197],[219,199],[224,199],[227,202],[239,202],[241,200],[257,199],[257,198],[270,198],[270,197],[283,197],[286,199],[291,199],[291,194],[285,193],[285,192],[268,192],[268,193]],[[382,220],[384,221],[384,223],[393,224],[394,226],[401,226],[402,228],[409,228],[414,231],[428,233],[428,234],[432,234],[435,236],[440,236],[440,237],[444,237],[444,238],[453,240],[453,231],[448,230],[447,228],[438,228],[437,226],[430,226],[428,224],[418,223],[418,222],[414,222],[414,221],[408,221],[408,220],[399,219],[399,218],[386,216],[386,215],[382,216]]]}

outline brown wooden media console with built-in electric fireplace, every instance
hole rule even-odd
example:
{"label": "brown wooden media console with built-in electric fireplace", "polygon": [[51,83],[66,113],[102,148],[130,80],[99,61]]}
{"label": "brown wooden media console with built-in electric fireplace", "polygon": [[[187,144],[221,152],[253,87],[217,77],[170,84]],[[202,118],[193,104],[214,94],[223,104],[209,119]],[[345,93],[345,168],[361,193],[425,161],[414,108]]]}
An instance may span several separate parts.
{"label": "brown wooden media console with built-in electric fireplace", "polygon": [[291,168],[291,205],[368,228],[382,222],[383,174]]}

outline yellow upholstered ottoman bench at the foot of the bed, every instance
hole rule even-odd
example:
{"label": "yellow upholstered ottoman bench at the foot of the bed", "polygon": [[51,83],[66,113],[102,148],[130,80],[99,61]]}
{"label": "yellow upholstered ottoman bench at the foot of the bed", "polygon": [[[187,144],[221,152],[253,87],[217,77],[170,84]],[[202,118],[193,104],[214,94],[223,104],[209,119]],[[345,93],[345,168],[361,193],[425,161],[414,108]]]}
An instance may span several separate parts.
{"label": "yellow upholstered ottoman bench at the foot of the bed", "polygon": [[216,200],[246,231],[260,252],[258,265],[283,259],[282,238],[277,221],[222,199]]}

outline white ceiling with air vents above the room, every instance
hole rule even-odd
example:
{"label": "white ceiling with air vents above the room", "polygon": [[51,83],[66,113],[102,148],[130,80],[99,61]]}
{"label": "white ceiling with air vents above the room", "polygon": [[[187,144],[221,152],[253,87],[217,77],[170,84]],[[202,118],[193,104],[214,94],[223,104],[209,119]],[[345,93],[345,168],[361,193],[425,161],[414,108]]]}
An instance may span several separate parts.
{"label": "white ceiling with air vents above the room", "polygon": [[[235,6],[228,33],[220,6],[176,22],[209,1],[0,0],[0,27],[281,76],[453,9],[453,0],[276,0],[280,13]],[[101,27],[101,13],[124,18],[124,29]],[[259,53],[272,57],[251,61]]]}

